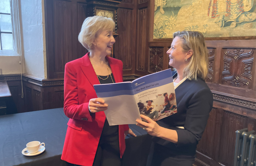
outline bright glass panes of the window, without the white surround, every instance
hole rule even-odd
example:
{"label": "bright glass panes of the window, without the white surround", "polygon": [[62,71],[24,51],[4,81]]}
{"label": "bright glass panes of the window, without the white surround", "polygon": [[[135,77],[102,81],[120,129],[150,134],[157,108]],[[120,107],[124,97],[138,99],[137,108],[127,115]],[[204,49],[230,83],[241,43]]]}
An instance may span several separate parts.
{"label": "bright glass panes of the window, without the white surround", "polygon": [[10,0],[0,0],[0,49],[13,50]]}

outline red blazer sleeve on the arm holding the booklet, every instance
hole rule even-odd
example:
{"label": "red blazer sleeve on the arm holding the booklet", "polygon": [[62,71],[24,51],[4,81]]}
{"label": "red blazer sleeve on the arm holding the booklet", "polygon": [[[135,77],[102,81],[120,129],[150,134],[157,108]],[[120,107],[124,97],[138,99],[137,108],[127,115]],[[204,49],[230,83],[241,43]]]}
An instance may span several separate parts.
{"label": "red blazer sleeve on the arm holding the booklet", "polygon": [[70,119],[92,122],[89,103],[79,104],[76,75],[76,69],[67,63],[64,73],[64,113]]}

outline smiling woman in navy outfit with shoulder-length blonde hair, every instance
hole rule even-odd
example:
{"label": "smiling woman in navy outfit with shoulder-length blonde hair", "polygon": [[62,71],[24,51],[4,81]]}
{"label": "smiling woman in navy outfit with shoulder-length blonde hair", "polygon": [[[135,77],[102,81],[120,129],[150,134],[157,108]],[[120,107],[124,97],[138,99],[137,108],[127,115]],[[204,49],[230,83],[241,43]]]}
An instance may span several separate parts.
{"label": "smiling woman in navy outfit with shoulder-length blonde hair", "polygon": [[178,31],[167,51],[177,73],[175,85],[177,113],[157,122],[141,115],[148,123],[137,125],[153,136],[147,166],[192,166],[196,145],[201,139],[213,107],[213,95],[205,83],[208,50],[200,32]]}

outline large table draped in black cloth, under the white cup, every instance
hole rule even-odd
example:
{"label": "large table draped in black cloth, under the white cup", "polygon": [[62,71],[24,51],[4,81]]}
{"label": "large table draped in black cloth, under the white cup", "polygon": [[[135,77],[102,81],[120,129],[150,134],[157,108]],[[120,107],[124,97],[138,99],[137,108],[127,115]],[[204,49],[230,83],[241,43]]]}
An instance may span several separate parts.
{"label": "large table draped in black cloth, under the white cup", "polygon": [[[61,160],[67,123],[63,108],[0,116],[0,166],[66,166]],[[129,125],[137,137],[126,136],[122,166],[145,166],[151,136]],[[27,157],[21,151],[30,141],[45,143],[45,151]]]}

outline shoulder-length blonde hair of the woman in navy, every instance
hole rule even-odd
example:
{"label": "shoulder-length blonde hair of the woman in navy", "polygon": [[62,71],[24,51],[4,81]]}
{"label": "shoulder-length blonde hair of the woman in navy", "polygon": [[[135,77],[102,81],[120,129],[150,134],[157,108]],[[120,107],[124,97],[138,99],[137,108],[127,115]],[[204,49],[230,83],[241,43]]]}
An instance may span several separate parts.
{"label": "shoulder-length blonde hair of the woman in navy", "polygon": [[173,34],[173,38],[179,37],[182,41],[184,51],[193,50],[188,65],[184,69],[184,76],[188,79],[196,80],[200,77],[206,79],[208,73],[208,49],[204,42],[204,35],[200,32],[178,31]]}

